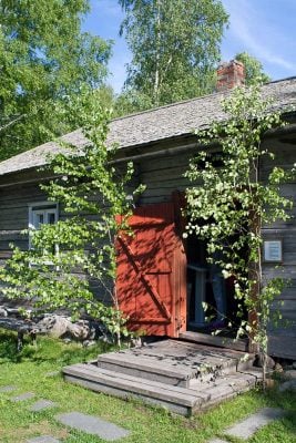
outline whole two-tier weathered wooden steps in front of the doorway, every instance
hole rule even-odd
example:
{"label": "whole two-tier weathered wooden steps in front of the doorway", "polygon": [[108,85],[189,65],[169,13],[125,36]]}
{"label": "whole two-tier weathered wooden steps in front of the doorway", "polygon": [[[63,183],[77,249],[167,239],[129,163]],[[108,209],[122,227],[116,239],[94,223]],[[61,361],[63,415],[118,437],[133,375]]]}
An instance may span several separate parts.
{"label": "whole two-tier weathered wooden steps in front of the doorway", "polygon": [[261,372],[244,353],[176,340],[99,356],[63,369],[67,381],[191,415],[253,388]]}

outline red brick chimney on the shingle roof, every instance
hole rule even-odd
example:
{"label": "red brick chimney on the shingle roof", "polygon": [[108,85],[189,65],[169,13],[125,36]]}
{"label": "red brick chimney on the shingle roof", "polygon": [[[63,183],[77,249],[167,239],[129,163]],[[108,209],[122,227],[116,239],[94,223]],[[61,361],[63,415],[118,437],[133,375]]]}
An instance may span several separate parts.
{"label": "red brick chimney on the shingle roof", "polygon": [[245,66],[237,60],[222,63],[217,69],[216,91],[227,91],[245,84]]}

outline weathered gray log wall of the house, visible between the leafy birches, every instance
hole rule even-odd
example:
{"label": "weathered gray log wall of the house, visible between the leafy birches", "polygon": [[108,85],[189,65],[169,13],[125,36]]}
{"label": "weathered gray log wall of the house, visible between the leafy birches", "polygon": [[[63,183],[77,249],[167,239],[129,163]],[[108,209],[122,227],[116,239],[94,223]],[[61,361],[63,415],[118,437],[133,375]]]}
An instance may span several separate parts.
{"label": "weathered gray log wall of the house, visible between the leafy birches", "polygon": [[[190,141],[193,142],[193,138]],[[276,164],[289,168],[296,163],[295,140],[287,143],[287,140],[268,140],[268,146],[275,151]],[[161,148],[170,148],[162,146]],[[157,151],[157,144],[153,147]],[[184,147],[184,152],[176,151],[174,155],[160,155],[135,159],[136,177],[135,185],[146,185],[146,190],[140,197],[137,205],[167,202],[172,198],[172,192],[185,190],[188,186],[184,173],[188,166],[192,151]],[[263,162],[261,168],[262,179],[266,179],[271,171],[271,162]],[[3,177],[2,177],[3,178]],[[28,178],[33,179],[30,172]],[[18,177],[14,177],[14,183]],[[23,179],[23,177],[22,177]],[[11,177],[13,181],[13,177]],[[8,183],[9,184],[9,183]],[[0,182],[1,185],[1,182]],[[288,183],[282,186],[283,194],[294,200],[292,218],[287,222],[276,222],[273,226],[264,227],[266,239],[283,240],[283,264],[275,269],[272,264],[263,262],[265,277],[282,276],[290,280],[279,301],[284,301],[280,308],[283,312],[282,326],[277,329],[271,327],[269,351],[278,357],[296,359],[296,183]],[[28,227],[28,204],[44,202],[45,195],[40,190],[38,183],[14,184],[13,186],[0,187],[0,264],[9,256],[9,243],[14,243],[22,249],[28,248],[28,238],[21,235],[21,230]],[[60,219],[65,215],[59,214]],[[98,292],[100,292],[99,288]],[[284,322],[288,324],[284,327]]]}

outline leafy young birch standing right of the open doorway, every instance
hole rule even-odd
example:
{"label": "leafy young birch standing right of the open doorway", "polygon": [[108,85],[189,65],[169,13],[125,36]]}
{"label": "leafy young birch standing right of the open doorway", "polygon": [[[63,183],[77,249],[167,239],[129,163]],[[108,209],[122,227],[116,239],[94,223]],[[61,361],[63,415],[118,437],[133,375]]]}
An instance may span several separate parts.
{"label": "leafy young birch standing right of the open doorway", "polygon": [[[284,123],[279,113],[269,111],[271,102],[262,100],[258,85],[235,89],[222,109],[226,121],[197,132],[208,148],[197,153],[186,173],[193,186],[186,190],[185,236],[205,239],[208,261],[222,268],[224,278],[233,278],[242,319],[237,333],[252,337],[266,356],[272,302],[285,281],[263,276],[262,226],[289,218],[292,202],[280,194],[280,183],[294,171],[274,166],[266,181],[261,178],[262,162],[275,158],[263,135]],[[244,309],[248,320],[243,319]]]}

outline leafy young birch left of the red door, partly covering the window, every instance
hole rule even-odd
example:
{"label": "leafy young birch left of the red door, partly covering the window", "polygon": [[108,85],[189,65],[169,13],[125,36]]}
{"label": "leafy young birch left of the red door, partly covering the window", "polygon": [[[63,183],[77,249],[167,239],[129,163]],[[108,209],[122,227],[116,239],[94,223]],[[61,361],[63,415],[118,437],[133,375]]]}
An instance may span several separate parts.
{"label": "leafy young birch left of the red door, partly covering the window", "polygon": [[[50,164],[57,178],[42,186],[68,217],[30,229],[33,248],[13,248],[0,278],[9,285],[4,292],[10,298],[25,297],[40,309],[67,308],[73,316],[88,312],[120,337],[127,331],[114,287],[114,244],[127,227],[132,198],[126,198],[126,186],[133,167],[129,164],[124,172],[110,163],[116,152],[115,146],[106,146],[110,112],[100,107],[95,92],[78,96],[71,106],[80,110],[89,143],[79,151],[64,145],[65,151]],[[115,219],[119,214],[121,220]],[[93,291],[105,295],[112,306],[99,302]]]}

